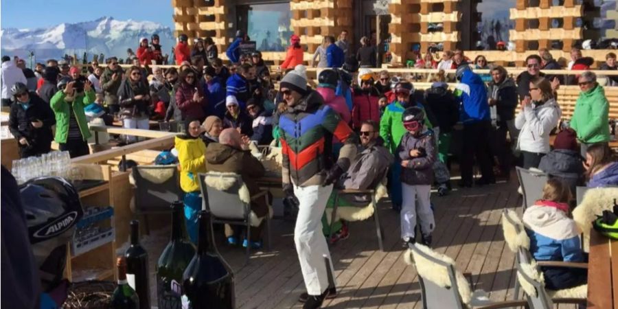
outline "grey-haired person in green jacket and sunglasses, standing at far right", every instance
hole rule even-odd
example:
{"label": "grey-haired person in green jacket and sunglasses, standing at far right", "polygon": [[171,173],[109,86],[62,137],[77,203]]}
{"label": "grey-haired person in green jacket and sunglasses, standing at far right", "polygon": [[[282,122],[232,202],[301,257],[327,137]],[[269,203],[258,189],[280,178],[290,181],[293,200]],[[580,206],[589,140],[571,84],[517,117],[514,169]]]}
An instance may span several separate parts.
{"label": "grey-haired person in green jacket and sunglasses, standing at far right", "polygon": [[579,78],[580,97],[575,102],[575,111],[571,117],[571,128],[577,132],[582,156],[586,156],[589,144],[603,143],[610,140],[609,102],[605,91],[597,82],[597,76],[585,71]]}

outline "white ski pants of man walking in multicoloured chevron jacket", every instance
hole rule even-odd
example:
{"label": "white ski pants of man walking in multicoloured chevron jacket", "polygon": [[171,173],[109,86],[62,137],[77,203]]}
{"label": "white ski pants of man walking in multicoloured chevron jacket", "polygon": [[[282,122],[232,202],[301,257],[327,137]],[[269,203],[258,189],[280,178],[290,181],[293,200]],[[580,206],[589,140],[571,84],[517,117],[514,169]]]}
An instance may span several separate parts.
{"label": "white ski pants of man walking in multicoloured chevron jacket", "polygon": [[294,242],[309,295],[320,295],[328,288],[324,255],[330,261],[331,271],[334,269],[328,245],[322,233],[322,215],[330,192],[332,192],[332,185],[328,187],[294,186],[294,194],[300,202],[294,229]]}

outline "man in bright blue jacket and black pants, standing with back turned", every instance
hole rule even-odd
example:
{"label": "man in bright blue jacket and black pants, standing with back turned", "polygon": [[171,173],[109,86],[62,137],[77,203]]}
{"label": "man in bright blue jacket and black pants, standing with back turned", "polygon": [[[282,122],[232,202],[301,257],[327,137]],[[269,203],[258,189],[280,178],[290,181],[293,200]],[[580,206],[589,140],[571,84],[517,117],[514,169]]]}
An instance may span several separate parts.
{"label": "man in bright blue jacket and black pants, standing with back turned", "polygon": [[474,157],[481,168],[481,179],[476,185],[496,183],[490,156],[490,130],[492,120],[487,100],[487,90],[481,76],[468,65],[460,65],[455,73],[459,84],[455,86],[461,100],[459,121],[464,124],[464,148],[461,150],[461,187],[472,186]]}

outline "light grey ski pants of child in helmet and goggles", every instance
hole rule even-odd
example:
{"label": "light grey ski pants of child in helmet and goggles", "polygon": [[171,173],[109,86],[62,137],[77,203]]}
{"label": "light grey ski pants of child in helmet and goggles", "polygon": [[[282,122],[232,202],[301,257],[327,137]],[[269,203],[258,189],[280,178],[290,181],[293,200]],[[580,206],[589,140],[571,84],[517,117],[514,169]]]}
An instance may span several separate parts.
{"label": "light grey ski pants of child in helmet and goggles", "polygon": [[414,238],[417,216],[420,219],[421,231],[429,234],[435,227],[433,211],[431,211],[431,185],[407,185],[402,186],[401,207],[401,238]]}

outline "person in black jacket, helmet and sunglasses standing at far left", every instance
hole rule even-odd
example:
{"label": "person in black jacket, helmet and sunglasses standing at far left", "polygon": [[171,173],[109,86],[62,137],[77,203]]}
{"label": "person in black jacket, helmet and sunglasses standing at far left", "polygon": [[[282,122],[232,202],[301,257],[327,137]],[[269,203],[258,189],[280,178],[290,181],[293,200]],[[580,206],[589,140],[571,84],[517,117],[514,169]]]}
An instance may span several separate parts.
{"label": "person in black jacket, helmet and sunglasses standing at far left", "polygon": [[28,91],[25,84],[11,87],[13,104],[9,114],[9,130],[18,141],[19,157],[43,155],[52,149],[52,126],[56,118],[49,104]]}

